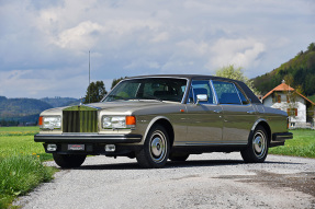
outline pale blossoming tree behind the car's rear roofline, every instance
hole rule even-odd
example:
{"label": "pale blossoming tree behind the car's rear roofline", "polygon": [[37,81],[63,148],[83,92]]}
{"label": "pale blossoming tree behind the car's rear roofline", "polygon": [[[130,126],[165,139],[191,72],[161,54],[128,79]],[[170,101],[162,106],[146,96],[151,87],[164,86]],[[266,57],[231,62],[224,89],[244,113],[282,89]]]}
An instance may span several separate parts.
{"label": "pale blossoming tree behind the car's rear roofline", "polygon": [[234,65],[229,65],[216,70],[215,76],[243,81],[256,95],[260,94],[254,88],[252,81],[244,76],[241,67],[235,68]]}

